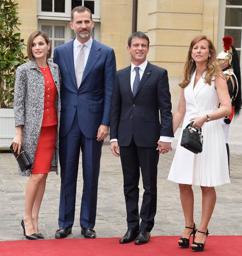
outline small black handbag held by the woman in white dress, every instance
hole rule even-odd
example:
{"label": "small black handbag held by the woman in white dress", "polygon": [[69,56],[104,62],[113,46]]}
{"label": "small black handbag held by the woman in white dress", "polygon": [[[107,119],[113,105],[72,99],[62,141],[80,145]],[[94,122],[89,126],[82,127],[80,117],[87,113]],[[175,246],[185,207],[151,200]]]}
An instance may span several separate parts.
{"label": "small black handbag held by the woman in white dress", "polygon": [[195,130],[192,128],[193,123],[194,121],[188,124],[183,130],[181,137],[181,147],[192,151],[194,154],[197,154],[202,152],[203,136],[201,128]]}

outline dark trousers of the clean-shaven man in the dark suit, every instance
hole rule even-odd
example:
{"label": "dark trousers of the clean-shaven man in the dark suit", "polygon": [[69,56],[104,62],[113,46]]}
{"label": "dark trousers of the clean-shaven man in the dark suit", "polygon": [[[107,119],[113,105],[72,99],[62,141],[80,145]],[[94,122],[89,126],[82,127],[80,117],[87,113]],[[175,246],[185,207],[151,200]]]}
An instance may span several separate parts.
{"label": "dark trousers of the clean-shaven man in the dark suit", "polygon": [[[159,153],[153,147],[138,147],[134,138],[129,146],[119,147],[123,169],[128,229],[150,232],[154,227],[157,203],[157,165]],[[142,206],[138,209],[139,179],[142,174],[144,194]],[[141,223],[140,223],[141,218]]]}

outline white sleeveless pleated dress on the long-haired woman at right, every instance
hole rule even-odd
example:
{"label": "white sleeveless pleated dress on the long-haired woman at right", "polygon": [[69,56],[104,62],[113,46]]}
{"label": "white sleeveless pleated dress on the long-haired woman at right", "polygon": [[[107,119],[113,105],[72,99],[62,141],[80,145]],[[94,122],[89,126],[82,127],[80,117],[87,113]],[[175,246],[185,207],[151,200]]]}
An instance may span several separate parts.
{"label": "white sleeveless pleated dress on the long-haired woman at right", "polygon": [[184,89],[186,114],[168,180],[181,184],[215,187],[230,183],[227,151],[220,120],[209,121],[202,126],[201,153],[194,154],[180,145],[182,131],[190,123],[190,118],[212,113],[219,105],[215,82],[211,85],[204,83],[204,74],[193,89],[195,71]]}

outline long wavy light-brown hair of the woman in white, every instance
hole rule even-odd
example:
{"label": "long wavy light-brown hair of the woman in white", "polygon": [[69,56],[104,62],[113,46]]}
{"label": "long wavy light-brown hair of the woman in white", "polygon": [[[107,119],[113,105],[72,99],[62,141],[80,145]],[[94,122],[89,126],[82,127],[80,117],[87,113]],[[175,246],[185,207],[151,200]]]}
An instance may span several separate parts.
{"label": "long wavy light-brown hair of the woman in white", "polygon": [[181,86],[181,88],[186,87],[190,83],[191,75],[192,73],[194,73],[196,69],[196,63],[195,61],[192,61],[192,48],[200,40],[207,40],[209,45],[209,55],[211,55],[210,60],[208,59],[207,61],[207,66],[206,66],[207,72],[205,74],[204,81],[209,85],[211,85],[213,76],[222,75],[221,64],[217,60],[217,52],[213,45],[213,42],[209,38],[207,38],[207,36],[196,36],[195,38],[192,39],[192,42],[188,50],[188,56],[186,58],[184,72],[183,72],[184,78],[183,78],[183,81],[179,83],[179,86]]}

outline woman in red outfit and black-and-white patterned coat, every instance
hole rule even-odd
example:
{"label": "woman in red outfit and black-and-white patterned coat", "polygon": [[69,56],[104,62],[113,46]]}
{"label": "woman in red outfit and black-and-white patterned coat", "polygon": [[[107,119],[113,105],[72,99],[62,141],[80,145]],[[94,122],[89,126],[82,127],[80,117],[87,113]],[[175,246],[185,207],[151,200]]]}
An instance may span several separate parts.
{"label": "woman in red outfit and black-and-white patterned coat", "polygon": [[[43,239],[38,217],[48,172],[58,172],[58,127],[60,113],[60,72],[47,59],[51,56],[48,36],[33,32],[27,42],[30,59],[17,68],[15,80],[15,129],[13,148],[21,145],[33,161],[23,176],[31,176],[25,193],[25,216],[21,222],[27,239]],[[54,78],[54,79],[53,79]]]}

